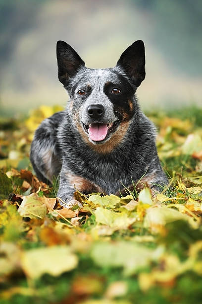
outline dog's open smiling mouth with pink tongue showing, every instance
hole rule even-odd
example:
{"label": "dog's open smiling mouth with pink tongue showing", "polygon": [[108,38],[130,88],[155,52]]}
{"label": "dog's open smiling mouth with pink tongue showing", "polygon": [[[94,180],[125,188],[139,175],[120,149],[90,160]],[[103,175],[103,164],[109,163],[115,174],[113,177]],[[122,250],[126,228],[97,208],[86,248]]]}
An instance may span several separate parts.
{"label": "dog's open smiling mouth with pink tongue showing", "polygon": [[93,142],[99,142],[107,140],[118,128],[119,121],[114,121],[110,124],[93,123],[90,125],[83,124],[85,132],[89,135]]}

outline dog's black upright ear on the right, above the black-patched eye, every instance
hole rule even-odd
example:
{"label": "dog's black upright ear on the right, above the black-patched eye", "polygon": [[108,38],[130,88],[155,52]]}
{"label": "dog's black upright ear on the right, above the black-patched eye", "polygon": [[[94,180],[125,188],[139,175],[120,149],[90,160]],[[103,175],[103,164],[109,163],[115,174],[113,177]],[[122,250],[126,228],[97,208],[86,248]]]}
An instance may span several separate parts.
{"label": "dog's black upright ear on the right, above the black-patched eye", "polygon": [[145,79],[145,46],[142,40],[130,45],[121,55],[117,66],[124,69],[135,86],[139,86]]}

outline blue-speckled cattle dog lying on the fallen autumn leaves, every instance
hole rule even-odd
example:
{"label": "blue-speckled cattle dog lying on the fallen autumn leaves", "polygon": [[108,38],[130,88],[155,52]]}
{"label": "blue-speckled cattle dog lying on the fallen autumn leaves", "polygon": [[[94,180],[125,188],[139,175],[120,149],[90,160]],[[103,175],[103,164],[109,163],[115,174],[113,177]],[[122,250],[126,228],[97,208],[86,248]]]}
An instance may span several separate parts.
{"label": "blue-speckled cattle dog lying on the fallen autumn leaves", "polygon": [[[35,132],[30,159],[37,177],[52,182],[65,207],[84,194],[124,195],[148,184],[152,193],[168,184],[155,146],[155,127],[138,105],[145,79],[145,46],[134,42],[114,68],[89,69],[76,51],[57,42],[58,78],[70,96],[64,111]],[[126,193],[125,193],[126,195]]]}

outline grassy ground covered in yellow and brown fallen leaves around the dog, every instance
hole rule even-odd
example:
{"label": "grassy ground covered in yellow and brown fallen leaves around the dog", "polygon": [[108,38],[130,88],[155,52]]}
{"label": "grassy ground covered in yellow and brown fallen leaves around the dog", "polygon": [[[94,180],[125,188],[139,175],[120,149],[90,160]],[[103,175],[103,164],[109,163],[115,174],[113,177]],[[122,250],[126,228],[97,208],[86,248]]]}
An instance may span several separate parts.
{"label": "grassy ground covered in yellow and brown fallen leaves around the dog", "polygon": [[150,113],[170,181],[155,198],[75,189],[71,209],[29,161],[34,130],[57,110],[0,119],[0,304],[201,303],[202,109]]}

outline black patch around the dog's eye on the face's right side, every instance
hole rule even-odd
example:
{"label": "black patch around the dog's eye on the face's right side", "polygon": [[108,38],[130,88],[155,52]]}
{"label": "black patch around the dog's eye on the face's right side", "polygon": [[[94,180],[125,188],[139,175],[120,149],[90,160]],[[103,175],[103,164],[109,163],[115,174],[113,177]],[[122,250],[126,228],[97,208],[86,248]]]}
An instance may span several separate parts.
{"label": "black patch around the dog's eye on the face's right side", "polygon": [[[118,74],[118,81],[107,82],[104,85],[104,93],[110,99],[114,107],[114,114],[121,122],[129,121],[135,113],[134,94],[136,89],[122,75]],[[120,93],[112,93],[112,89],[120,90]]]}

